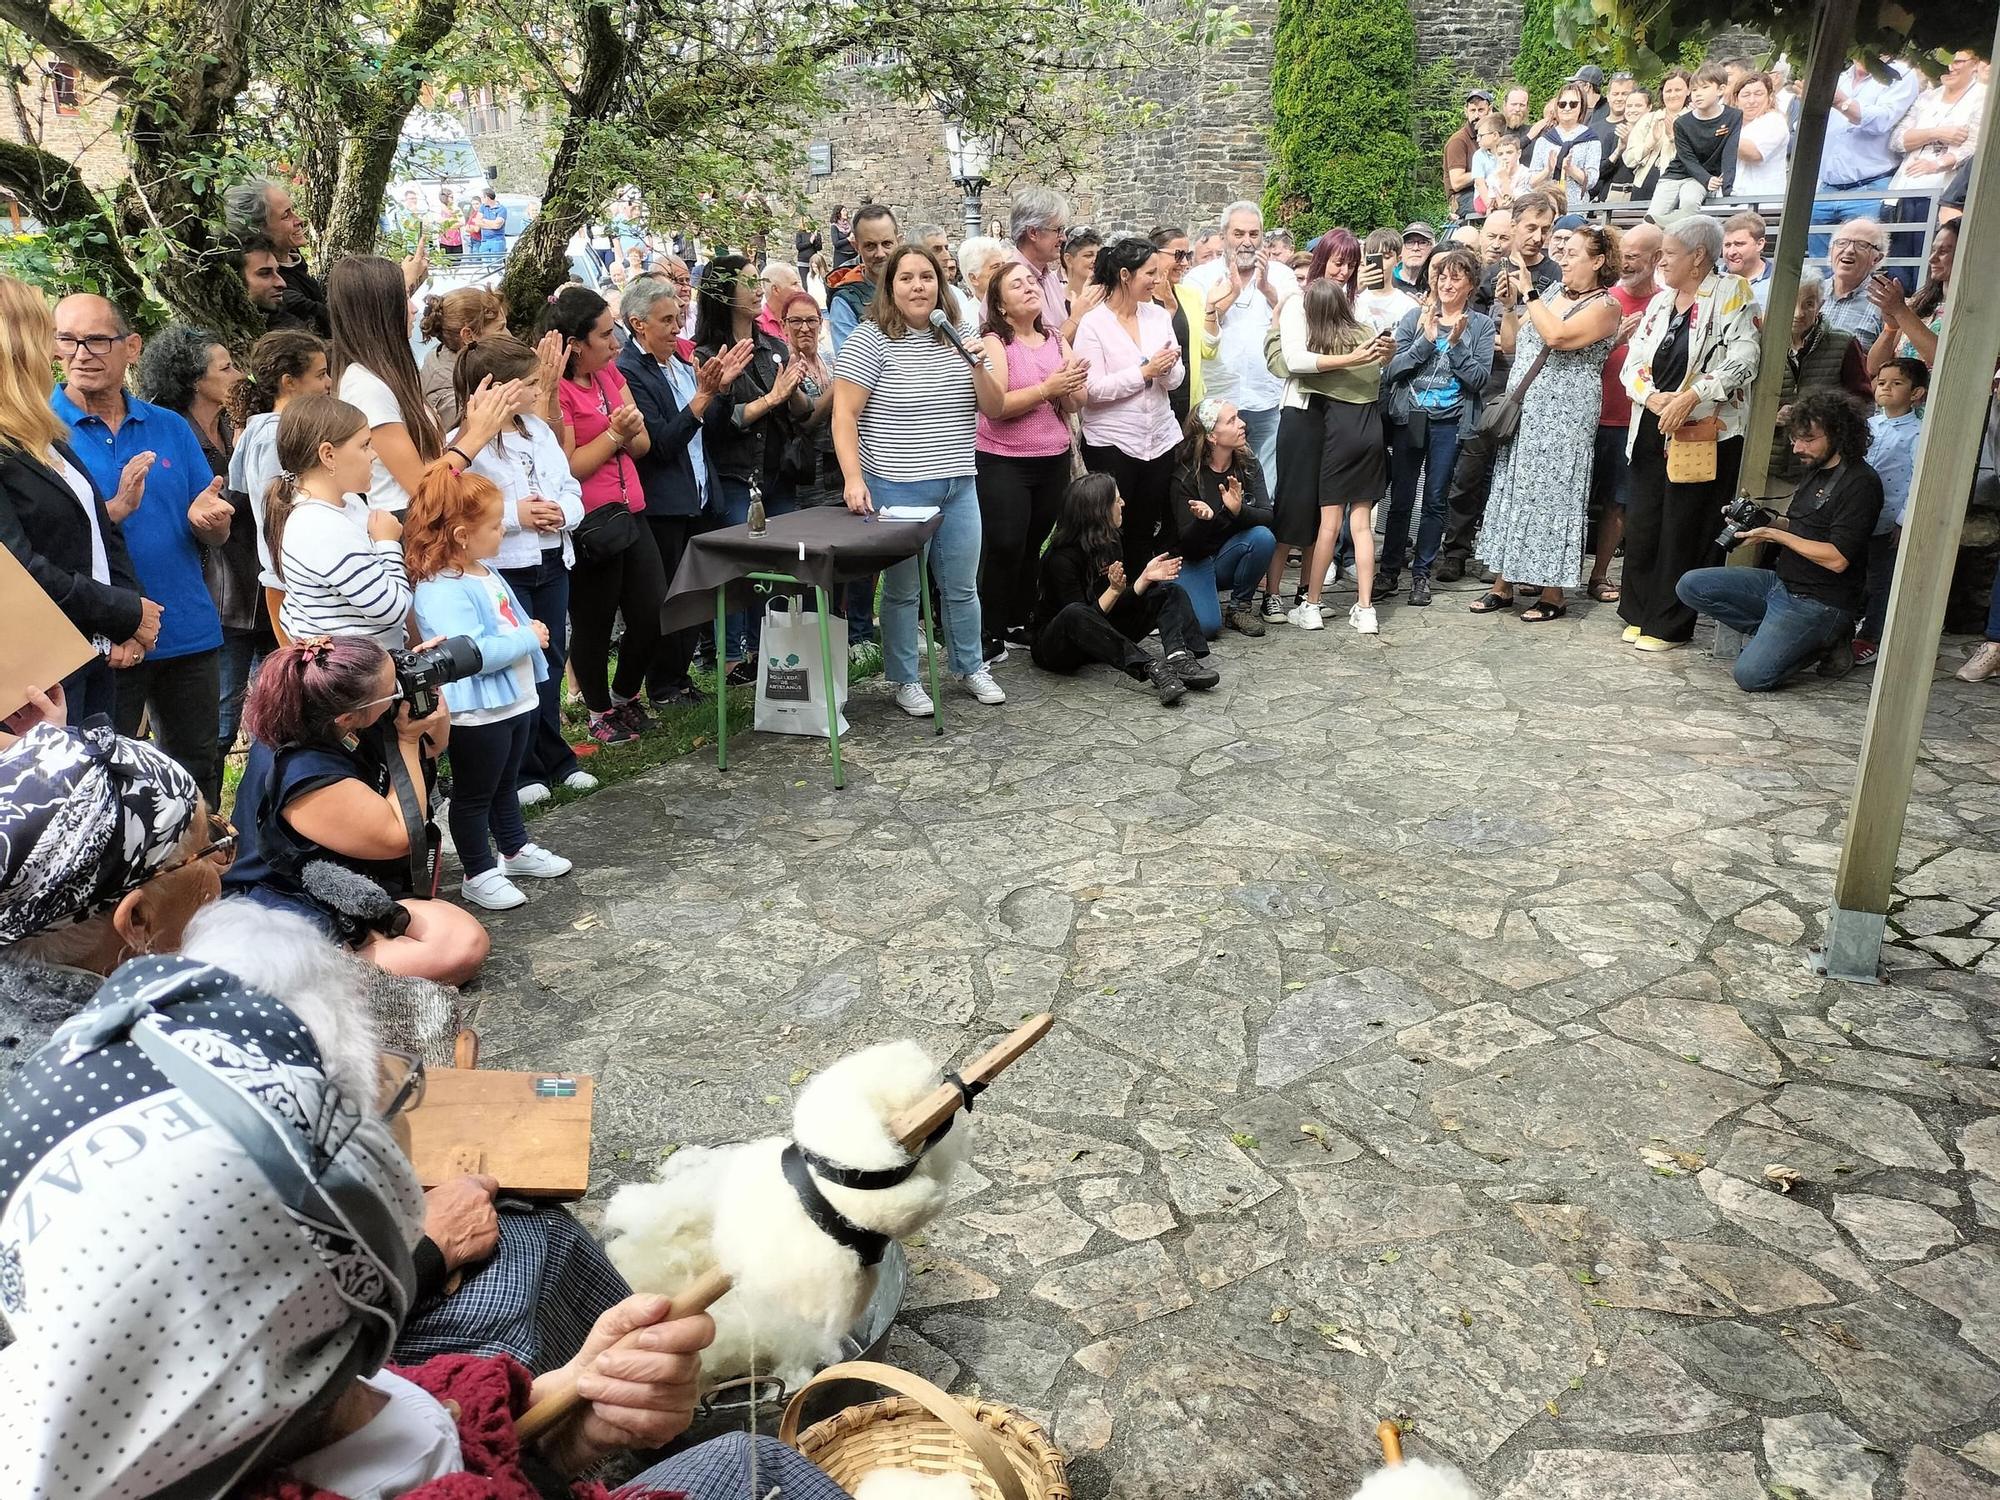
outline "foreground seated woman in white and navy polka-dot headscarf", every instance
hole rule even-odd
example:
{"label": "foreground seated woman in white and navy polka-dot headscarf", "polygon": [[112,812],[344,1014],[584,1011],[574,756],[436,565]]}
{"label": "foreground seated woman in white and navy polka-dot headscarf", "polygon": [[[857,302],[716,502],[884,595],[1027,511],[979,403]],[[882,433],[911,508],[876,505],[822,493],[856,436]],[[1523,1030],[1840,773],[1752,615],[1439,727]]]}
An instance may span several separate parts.
{"label": "foreground seated woman in white and navy polka-dot headscarf", "polygon": [[[662,1296],[604,1312],[556,1376],[508,1356],[384,1368],[422,1196],[394,1134],[406,1094],[352,1000],[280,1004],[220,964],[142,956],[0,1090],[0,1306],[20,1336],[0,1352],[0,1492],[602,1496],[572,1478],[688,1428],[714,1324]],[[522,1448],[514,1418],[556,1378],[584,1402]],[[754,1462],[788,1500],[842,1496],[756,1442],[632,1492],[734,1500]]]}

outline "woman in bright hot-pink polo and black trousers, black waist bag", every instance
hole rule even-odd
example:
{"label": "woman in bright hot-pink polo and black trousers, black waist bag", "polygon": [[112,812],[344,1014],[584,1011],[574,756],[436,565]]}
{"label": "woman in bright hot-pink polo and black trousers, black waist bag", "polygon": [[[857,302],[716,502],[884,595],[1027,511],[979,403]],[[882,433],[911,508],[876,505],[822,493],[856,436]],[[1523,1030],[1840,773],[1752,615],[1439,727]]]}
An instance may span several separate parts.
{"label": "woman in bright hot-pink polo and black trousers, black waist bag", "polygon": [[[568,340],[570,358],[558,386],[562,450],[570,474],[584,486],[584,524],[570,540],[570,666],[590,708],[590,738],[624,744],[652,728],[638,694],[660,646],[660,604],[666,572],[660,548],[638,514],[646,510],[632,454],[652,446],[646,420],[632,404],[626,380],[612,364],[612,310],[596,292],[566,286],[548,306],[544,328]],[[626,514],[618,514],[626,512]],[[612,622],[624,612],[618,676],[606,680]]]}

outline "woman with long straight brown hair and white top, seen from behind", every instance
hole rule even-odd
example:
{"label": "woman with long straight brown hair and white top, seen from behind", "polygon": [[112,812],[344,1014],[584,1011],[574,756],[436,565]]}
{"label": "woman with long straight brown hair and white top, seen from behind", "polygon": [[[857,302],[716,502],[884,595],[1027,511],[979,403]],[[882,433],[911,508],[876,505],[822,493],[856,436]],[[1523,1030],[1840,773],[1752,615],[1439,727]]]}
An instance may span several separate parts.
{"label": "woman with long straight brown hair and white top, seen from behind", "polygon": [[[368,506],[402,512],[424,466],[444,456],[444,428],[424,402],[410,352],[410,294],[402,268],[382,256],[336,260],[326,276],[334,390],[360,408],[374,434]],[[524,400],[520,390],[480,390],[466,402],[452,448],[470,464]]]}

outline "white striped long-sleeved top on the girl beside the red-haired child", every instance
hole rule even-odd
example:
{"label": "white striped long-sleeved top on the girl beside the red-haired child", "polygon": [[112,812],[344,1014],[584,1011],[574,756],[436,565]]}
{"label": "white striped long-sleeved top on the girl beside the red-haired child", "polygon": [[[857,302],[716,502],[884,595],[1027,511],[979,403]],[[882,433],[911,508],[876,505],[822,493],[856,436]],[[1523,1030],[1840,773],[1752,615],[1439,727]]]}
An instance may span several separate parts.
{"label": "white striped long-sleeved top on the girl beside the red-haired child", "polygon": [[336,510],[300,496],[284,520],[284,604],[278,624],[292,640],[304,636],[370,636],[382,646],[406,646],[410,574],[400,542],[368,536],[368,510],[350,502]]}

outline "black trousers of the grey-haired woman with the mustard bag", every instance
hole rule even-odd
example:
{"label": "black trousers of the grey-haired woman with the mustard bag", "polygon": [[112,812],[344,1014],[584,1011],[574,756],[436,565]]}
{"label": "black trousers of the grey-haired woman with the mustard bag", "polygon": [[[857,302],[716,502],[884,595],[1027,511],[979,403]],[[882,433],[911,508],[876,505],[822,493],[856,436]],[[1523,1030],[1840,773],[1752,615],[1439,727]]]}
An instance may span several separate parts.
{"label": "black trousers of the grey-haired woman with the mustard bag", "polygon": [[1712,480],[1668,484],[1660,420],[1652,412],[1640,418],[1626,474],[1626,568],[1618,590],[1618,618],[1640,634],[1694,640],[1694,610],[1674,586],[1682,574],[1722,562],[1716,532],[1742,458],[1744,440],[1730,438],[1716,452]]}

